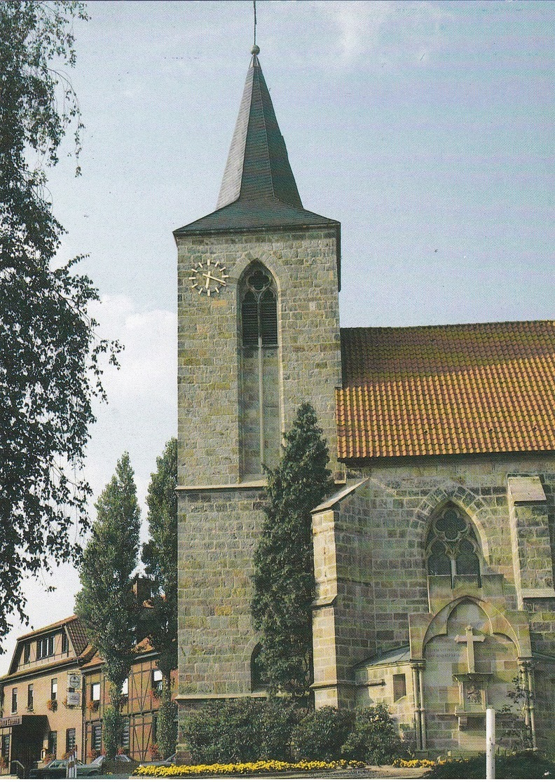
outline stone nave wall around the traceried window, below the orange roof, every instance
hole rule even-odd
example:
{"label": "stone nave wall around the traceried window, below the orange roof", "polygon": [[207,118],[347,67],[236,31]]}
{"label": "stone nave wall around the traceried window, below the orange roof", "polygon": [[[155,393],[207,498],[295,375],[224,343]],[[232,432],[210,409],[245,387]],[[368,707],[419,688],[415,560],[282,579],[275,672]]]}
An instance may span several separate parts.
{"label": "stone nave wall around the traceried window, below the orange roof", "polygon": [[[349,675],[352,680],[353,666],[364,658],[408,644],[409,615],[430,610],[424,541],[431,516],[447,501],[472,519],[482,547],[482,572],[504,576],[507,608],[517,608],[507,475],[539,475],[555,561],[552,454],[384,461],[372,468],[349,469],[349,478],[368,480],[356,490],[356,497],[335,507],[338,597],[333,626],[338,683],[348,681]],[[533,546],[533,536],[529,540]],[[542,567],[544,559],[539,560]],[[534,561],[532,555],[528,561]],[[532,650],[555,655],[553,601],[528,600],[524,608]],[[350,688],[343,689],[350,698]]]}

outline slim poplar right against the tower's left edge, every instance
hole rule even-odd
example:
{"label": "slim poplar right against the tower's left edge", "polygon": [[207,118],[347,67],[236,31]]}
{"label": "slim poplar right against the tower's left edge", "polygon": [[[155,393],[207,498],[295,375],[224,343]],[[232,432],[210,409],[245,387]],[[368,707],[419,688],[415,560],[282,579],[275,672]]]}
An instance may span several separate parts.
{"label": "slim poplar right against the tower's left edge", "polygon": [[145,572],[154,591],[149,640],[158,653],[162,698],[158,714],[158,746],[163,758],[175,752],[177,705],[171,699],[171,672],[177,668],[177,439],[166,443],[156,459],[146,504],[149,540],[142,547]]}

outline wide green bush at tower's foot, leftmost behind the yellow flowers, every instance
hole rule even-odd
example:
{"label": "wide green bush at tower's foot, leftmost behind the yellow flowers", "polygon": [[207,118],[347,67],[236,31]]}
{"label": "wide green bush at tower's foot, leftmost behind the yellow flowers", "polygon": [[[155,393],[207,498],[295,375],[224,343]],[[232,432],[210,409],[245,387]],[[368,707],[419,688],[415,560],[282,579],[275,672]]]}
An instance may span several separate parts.
{"label": "wide green bush at tower's foot, leftmost behind the yellow flowers", "polygon": [[237,698],[188,714],[184,741],[193,763],[288,760],[292,727],[298,720],[287,701]]}

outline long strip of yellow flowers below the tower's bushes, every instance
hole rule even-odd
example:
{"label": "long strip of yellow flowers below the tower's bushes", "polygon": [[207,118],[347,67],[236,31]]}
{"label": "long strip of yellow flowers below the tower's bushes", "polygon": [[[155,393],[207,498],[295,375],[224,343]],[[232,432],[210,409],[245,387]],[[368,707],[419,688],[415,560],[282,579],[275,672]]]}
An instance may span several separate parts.
{"label": "long strip of yellow flowers below the tower's bushes", "polygon": [[201,777],[202,774],[260,774],[276,771],[324,771],[335,769],[360,769],[360,760],[301,760],[287,763],[282,760],[257,760],[253,763],[211,763],[200,766],[138,766],[134,777]]}

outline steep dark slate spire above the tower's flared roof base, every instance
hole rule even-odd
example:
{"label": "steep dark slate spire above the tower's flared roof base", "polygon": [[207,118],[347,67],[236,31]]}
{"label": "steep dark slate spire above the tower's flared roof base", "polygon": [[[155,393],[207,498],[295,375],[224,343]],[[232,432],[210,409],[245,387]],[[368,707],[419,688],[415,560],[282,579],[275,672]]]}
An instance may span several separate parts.
{"label": "steep dark slate spire above the tower's flared roof base", "polygon": [[278,199],[302,209],[259,52],[255,44],[216,208],[238,200]]}

